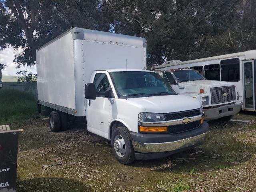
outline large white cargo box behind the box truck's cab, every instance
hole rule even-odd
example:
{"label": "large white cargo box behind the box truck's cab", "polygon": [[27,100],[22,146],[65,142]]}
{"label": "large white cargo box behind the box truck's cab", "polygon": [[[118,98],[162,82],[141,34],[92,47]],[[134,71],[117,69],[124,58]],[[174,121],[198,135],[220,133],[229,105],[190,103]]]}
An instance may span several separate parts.
{"label": "large white cargo box behind the box truck's cab", "polygon": [[146,67],[144,38],[71,28],[36,52],[38,100],[85,116],[84,85],[94,70]]}

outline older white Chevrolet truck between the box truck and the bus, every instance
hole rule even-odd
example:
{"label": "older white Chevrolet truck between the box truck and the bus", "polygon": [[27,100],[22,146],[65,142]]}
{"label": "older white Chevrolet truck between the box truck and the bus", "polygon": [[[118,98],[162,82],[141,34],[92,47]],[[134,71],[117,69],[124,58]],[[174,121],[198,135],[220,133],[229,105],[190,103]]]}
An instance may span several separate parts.
{"label": "older white Chevrolet truck between the box truck and the bus", "polygon": [[242,108],[239,92],[232,82],[207,80],[198,71],[187,68],[156,71],[176,93],[202,102],[204,120],[229,120]]}

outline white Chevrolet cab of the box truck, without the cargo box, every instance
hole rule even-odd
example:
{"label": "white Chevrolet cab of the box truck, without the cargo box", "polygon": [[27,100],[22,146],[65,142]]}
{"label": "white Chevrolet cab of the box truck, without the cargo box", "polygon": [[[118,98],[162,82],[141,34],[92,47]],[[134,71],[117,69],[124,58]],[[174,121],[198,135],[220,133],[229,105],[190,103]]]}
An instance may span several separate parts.
{"label": "white Chevrolet cab of the box truck, without the cargo box", "polygon": [[156,72],[97,70],[85,86],[88,131],[112,141],[116,158],[161,158],[204,142],[202,104],[176,94]]}

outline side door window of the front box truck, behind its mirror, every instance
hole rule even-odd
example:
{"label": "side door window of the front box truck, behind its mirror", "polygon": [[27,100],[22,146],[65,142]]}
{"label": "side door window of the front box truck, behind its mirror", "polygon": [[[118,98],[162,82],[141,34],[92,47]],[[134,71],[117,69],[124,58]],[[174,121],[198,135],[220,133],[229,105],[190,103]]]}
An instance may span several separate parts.
{"label": "side door window of the front box truck, behind its mirror", "polygon": [[105,73],[97,73],[94,77],[96,93],[105,93],[110,89],[108,77]]}

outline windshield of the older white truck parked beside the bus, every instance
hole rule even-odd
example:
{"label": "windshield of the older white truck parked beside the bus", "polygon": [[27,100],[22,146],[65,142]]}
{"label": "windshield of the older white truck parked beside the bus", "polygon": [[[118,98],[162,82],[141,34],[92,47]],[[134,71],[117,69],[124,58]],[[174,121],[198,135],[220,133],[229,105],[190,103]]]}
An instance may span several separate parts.
{"label": "windshield of the older white truck parked beside the bus", "polygon": [[206,80],[204,76],[195,70],[176,70],[173,73],[179,82]]}

